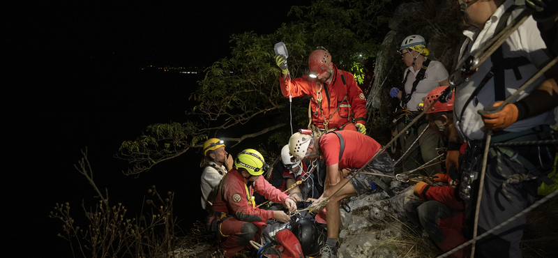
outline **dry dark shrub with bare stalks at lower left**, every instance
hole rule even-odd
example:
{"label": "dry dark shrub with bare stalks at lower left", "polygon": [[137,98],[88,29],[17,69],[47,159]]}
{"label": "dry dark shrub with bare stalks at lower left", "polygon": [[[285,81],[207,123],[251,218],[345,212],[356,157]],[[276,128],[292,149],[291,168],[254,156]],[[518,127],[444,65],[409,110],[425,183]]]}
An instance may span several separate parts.
{"label": "dry dark shrub with bare stalks at lower left", "polygon": [[[76,169],[100,193],[93,183],[87,154],[83,154],[80,167],[76,166]],[[167,257],[178,241],[172,208],[174,193],[167,192],[168,197],[163,199],[155,185],[148,193],[153,199],[147,199],[145,203],[151,212],[140,215],[140,218],[130,218],[122,204],[110,206],[108,192],[99,195],[101,200],[94,209],[82,204],[86,217],[83,223],[75,222],[68,202],[56,204],[50,218],[63,222],[63,233],[58,236],[70,243],[74,257]]]}

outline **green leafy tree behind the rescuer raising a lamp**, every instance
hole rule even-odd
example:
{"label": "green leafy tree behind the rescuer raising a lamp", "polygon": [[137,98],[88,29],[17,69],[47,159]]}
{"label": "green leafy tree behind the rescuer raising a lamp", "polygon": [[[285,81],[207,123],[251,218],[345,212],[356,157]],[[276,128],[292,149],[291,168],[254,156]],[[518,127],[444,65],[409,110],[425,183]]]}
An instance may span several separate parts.
{"label": "green leafy tree behind the rescuer raising a lamp", "polygon": [[[375,56],[389,20],[386,3],[390,1],[313,1],[310,6],[293,6],[290,14],[299,20],[282,24],[275,33],[258,35],[250,31],[232,35],[230,56],[207,68],[205,78],[198,82],[199,88],[190,96],[196,105],[186,112],[189,121],[148,126],[144,135],[121,144],[117,157],[133,165],[126,174],[138,174],[191,147],[200,147],[218,130],[249,126],[250,137],[277,129],[290,132],[279,126],[289,123],[291,114],[287,112],[288,99],[280,92],[273,45],[282,41],[287,46],[292,77],[306,73],[308,55],[321,45],[331,52],[333,63],[361,81],[363,60]],[[308,98],[295,98],[291,112],[294,130],[306,128]],[[286,143],[286,138],[277,138],[285,133],[275,134],[270,141]],[[246,138],[229,140],[240,142]],[[279,143],[277,149],[280,146]]]}

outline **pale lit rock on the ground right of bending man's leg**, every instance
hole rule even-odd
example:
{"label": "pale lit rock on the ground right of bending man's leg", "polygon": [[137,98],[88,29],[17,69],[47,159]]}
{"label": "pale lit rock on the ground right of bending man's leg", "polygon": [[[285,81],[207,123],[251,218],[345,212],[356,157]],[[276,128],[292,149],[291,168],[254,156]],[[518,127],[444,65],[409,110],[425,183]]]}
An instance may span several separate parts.
{"label": "pale lit rock on the ground right of bending man's leg", "polygon": [[380,243],[400,236],[406,221],[403,207],[413,186],[398,181],[391,184],[394,197],[385,192],[352,197],[348,203],[351,213],[341,209],[340,258],[398,257],[393,248]]}

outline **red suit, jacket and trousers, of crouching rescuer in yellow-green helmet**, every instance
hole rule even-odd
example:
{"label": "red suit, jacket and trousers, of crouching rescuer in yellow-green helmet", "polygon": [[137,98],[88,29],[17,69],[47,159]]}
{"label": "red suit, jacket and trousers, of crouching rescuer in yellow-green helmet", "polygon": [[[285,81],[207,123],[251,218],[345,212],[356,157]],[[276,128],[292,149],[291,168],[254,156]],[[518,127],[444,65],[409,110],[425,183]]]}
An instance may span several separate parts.
{"label": "red suit, jacket and trousers, of crouching rescuer in yellow-green helmet", "polygon": [[[246,190],[248,189],[248,192]],[[213,211],[224,212],[232,218],[223,220],[220,224],[221,236],[227,237],[221,248],[225,257],[233,257],[236,252],[250,244],[250,240],[257,241],[266,220],[273,219],[273,211],[254,208],[252,199],[254,189],[266,199],[282,204],[289,198],[277,188],[274,188],[263,178],[247,186],[241,174],[233,169],[223,178],[223,185],[213,202]]]}

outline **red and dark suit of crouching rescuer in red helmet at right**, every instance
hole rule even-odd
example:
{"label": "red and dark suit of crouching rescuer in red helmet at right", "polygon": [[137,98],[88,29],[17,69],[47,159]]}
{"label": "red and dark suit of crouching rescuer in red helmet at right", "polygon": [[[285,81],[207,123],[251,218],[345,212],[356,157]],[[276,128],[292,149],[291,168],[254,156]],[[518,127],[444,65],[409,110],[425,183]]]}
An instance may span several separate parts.
{"label": "red and dark suit of crouching rescuer in red helmet at right", "polygon": [[[420,225],[442,251],[447,252],[467,242],[463,236],[465,228],[465,203],[458,190],[451,186],[430,186],[421,188],[419,197],[424,202],[411,200],[405,206],[407,218]],[[409,214],[410,213],[410,214]],[[412,218],[415,217],[415,218]],[[450,257],[469,257],[469,247],[454,252]]]}

